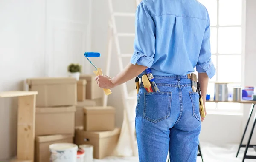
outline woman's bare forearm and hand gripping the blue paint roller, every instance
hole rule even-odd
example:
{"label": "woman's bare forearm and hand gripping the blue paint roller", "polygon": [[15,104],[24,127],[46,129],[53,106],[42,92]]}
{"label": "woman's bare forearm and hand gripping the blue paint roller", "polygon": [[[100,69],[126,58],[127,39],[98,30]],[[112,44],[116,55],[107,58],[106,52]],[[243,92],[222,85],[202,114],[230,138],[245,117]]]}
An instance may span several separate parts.
{"label": "woman's bare forearm and hand gripping the blue paint roller", "polygon": [[111,89],[137,77],[146,69],[147,67],[145,66],[129,63],[123,71],[116,75],[116,77],[111,78],[99,75],[95,77],[95,80],[100,88]]}

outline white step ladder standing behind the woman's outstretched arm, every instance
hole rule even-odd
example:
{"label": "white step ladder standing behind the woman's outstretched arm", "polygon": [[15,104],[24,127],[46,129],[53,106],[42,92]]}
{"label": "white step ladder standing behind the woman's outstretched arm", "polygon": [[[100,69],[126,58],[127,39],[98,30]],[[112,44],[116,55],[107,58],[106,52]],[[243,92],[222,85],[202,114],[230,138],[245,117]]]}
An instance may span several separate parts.
{"label": "white step ladder standing behind the woman's outstretched arm", "polygon": [[[140,4],[140,0],[135,0],[136,6]],[[110,27],[110,35],[109,35],[109,42],[108,42],[108,59],[107,59],[107,68],[106,68],[106,75],[109,75],[110,71],[110,65],[111,65],[111,51],[112,51],[112,43],[115,43],[116,47],[116,52],[117,52],[117,60],[119,64],[119,70],[122,71],[124,69],[124,65],[122,62],[122,58],[127,58],[130,60],[132,54],[122,54],[121,53],[121,47],[120,47],[120,42],[119,42],[119,37],[135,37],[135,33],[118,33],[117,32],[117,26],[116,26],[116,17],[135,17],[135,12],[134,13],[125,13],[125,12],[115,12],[113,10],[113,0],[108,0],[108,6],[109,6],[109,11],[111,14],[111,20],[109,23]],[[112,42],[113,41],[113,42]],[[133,48],[133,47],[131,47]],[[135,82],[134,82],[135,86]],[[135,120],[130,121],[131,119],[131,114],[129,113],[129,106],[128,102],[131,99],[137,99],[137,96],[129,96],[128,95],[128,90],[127,90],[127,83],[122,84],[122,101],[123,101],[123,108],[124,108],[124,119],[126,119],[126,122],[128,124],[129,128],[129,137],[131,142],[131,148],[132,148],[132,154],[133,156],[137,155],[137,140],[135,136],[135,127],[134,130],[131,127],[131,123],[134,123],[135,125]],[[103,99],[104,105],[106,106],[107,104],[107,96],[104,97]],[[131,109],[131,108],[130,108]],[[122,132],[121,132],[122,134]]]}

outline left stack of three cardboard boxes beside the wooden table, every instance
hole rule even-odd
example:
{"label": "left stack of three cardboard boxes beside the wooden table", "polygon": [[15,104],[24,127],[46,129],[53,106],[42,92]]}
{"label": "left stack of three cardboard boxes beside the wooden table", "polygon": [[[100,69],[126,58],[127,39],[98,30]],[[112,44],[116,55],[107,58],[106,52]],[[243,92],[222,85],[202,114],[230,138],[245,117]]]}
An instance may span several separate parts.
{"label": "left stack of three cardboard boxes beside the wooden table", "polygon": [[35,115],[35,162],[49,161],[49,145],[73,143],[77,104],[75,78],[27,79],[29,91],[38,91]]}

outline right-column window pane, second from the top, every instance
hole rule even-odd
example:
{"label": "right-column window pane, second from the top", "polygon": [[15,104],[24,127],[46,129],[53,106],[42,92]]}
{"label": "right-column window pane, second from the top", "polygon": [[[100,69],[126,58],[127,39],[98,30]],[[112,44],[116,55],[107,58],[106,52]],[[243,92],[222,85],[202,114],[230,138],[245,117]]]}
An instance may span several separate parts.
{"label": "right-column window pane, second from the top", "polygon": [[219,28],[219,53],[240,54],[242,51],[241,27]]}

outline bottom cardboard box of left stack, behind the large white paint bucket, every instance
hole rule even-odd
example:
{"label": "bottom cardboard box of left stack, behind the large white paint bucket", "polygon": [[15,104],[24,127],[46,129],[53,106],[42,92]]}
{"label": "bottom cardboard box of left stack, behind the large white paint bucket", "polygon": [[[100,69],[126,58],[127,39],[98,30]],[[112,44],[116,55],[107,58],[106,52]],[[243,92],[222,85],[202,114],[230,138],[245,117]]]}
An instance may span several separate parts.
{"label": "bottom cardboard box of left stack, behind the large white paint bucket", "polygon": [[72,134],[55,134],[35,137],[35,162],[49,162],[49,145],[54,143],[73,143]]}

